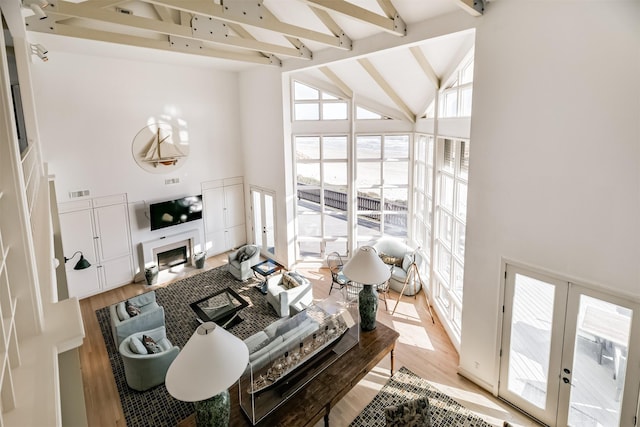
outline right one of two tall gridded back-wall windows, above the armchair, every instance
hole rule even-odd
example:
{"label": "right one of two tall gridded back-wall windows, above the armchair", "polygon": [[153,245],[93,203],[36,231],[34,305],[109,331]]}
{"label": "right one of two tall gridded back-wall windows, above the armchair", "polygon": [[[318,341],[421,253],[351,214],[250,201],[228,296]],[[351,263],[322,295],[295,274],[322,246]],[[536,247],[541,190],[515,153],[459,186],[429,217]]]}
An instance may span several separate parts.
{"label": "right one of two tall gridded back-wall windows, above the armchair", "polygon": [[407,238],[409,135],[356,136],[357,241]]}

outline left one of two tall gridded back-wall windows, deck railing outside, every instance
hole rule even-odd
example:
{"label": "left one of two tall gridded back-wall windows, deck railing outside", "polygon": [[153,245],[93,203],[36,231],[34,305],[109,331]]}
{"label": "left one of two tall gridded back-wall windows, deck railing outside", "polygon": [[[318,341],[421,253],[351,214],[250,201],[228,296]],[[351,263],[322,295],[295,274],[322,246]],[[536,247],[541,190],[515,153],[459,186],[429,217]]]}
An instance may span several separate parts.
{"label": "left one of two tall gridded back-wall windows, deck railing outside", "polygon": [[347,254],[348,138],[296,136],[298,248],[304,258]]}

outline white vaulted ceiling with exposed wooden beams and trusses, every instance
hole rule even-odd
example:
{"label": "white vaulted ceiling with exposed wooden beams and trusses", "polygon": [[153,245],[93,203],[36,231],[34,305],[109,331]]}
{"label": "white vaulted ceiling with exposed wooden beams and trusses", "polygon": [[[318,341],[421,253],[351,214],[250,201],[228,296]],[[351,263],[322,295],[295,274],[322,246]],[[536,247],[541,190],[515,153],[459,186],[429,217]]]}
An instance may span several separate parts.
{"label": "white vaulted ceiling with exposed wooden beams and trusses", "polygon": [[474,39],[472,30],[426,40],[416,34],[440,18],[481,16],[484,0],[23,0],[22,6],[29,38],[49,55],[302,70],[297,78],[415,121]]}

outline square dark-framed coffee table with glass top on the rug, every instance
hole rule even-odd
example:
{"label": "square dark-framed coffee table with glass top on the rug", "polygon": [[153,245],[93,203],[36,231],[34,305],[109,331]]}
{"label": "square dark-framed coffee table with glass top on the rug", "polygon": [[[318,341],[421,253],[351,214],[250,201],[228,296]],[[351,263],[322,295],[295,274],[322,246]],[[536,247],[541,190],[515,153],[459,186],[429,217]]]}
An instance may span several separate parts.
{"label": "square dark-framed coffee table with glass top on the rug", "polygon": [[214,322],[225,329],[244,320],[238,314],[248,305],[247,300],[231,288],[225,288],[189,304],[200,322]]}

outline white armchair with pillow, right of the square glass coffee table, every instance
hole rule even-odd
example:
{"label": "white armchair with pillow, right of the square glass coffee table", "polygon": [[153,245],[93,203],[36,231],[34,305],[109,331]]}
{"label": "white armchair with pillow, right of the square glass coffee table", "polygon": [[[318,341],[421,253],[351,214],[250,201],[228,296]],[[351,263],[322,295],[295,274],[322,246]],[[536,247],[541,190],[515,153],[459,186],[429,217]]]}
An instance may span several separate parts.
{"label": "white armchair with pillow, right of the square glass coffee table", "polygon": [[[283,283],[285,275],[294,277],[298,285],[287,288]],[[278,316],[286,317],[304,310],[313,303],[313,286],[309,279],[295,271],[275,274],[267,280],[267,301]]]}

